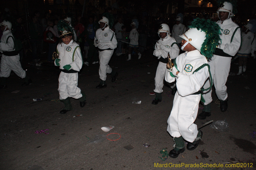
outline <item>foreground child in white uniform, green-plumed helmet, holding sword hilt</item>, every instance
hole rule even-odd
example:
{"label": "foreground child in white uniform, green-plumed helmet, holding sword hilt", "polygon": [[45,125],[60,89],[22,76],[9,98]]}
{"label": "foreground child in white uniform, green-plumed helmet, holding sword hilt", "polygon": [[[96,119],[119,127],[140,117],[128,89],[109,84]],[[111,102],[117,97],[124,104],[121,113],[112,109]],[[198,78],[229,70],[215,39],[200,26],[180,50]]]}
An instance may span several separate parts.
{"label": "foreground child in white uniform, green-plumed helmet, holding sword hilt", "polygon": [[169,83],[176,79],[177,86],[172,111],[167,120],[167,131],[175,142],[174,149],[169,153],[172,158],[177,158],[185,151],[184,140],[188,142],[187,149],[194,150],[202,138],[203,132],[197,130],[194,121],[201,98],[200,89],[210,75],[209,68],[205,67],[209,66],[206,58],[212,57],[218,45],[220,27],[210,20],[196,18],[190,29],[180,37],[184,39],[181,50],[186,52],[176,58],[172,72],[167,72],[165,76]]}

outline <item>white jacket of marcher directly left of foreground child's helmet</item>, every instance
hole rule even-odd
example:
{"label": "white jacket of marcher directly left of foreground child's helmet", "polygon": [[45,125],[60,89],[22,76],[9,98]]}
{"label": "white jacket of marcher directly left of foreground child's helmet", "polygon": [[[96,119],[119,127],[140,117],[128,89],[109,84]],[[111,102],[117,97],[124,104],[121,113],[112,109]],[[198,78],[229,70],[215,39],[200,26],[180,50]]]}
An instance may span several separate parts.
{"label": "white jacket of marcher directly left of foreground child's helmet", "polygon": [[[174,59],[176,58],[178,55],[179,55],[179,52],[180,52],[180,49],[179,47],[177,46],[177,44],[173,44],[175,41],[174,38],[172,38],[170,35],[167,35],[164,39],[160,38],[160,40],[158,40],[158,43],[161,45],[165,45],[166,47],[169,48],[168,51],[165,51],[165,50],[162,50],[162,49],[158,49],[155,45],[155,50],[153,52],[153,54],[158,57],[158,59],[160,57],[163,57],[163,58],[167,58],[168,56],[168,52],[170,52],[170,57],[171,59]],[[173,45],[172,45],[173,44]],[[171,47],[172,46],[172,47]]]}

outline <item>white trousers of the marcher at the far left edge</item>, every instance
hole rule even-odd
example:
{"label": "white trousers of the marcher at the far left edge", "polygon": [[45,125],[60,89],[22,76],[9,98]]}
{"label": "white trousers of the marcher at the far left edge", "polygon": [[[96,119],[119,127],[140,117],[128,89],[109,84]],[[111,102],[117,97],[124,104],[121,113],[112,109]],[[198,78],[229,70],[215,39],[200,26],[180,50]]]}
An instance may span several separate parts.
{"label": "white trousers of the marcher at the far left edge", "polygon": [[6,56],[2,55],[0,77],[9,77],[13,71],[20,78],[26,77],[26,71],[20,64],[20,55]]}

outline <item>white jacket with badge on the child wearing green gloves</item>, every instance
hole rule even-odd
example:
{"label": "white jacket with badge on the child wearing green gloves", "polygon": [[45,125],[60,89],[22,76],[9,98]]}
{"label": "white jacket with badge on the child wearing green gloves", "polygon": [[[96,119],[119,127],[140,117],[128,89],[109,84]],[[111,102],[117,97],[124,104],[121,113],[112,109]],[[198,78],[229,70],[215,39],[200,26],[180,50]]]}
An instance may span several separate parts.
{"label": "white jacket with badge on the child wearing green gloves", "polygon": [[[60,69],[64,70],[63,66],[70,65],[71,69],[80,71],[83,65],[82,55],[79,45],[71,40],[69,44],[61,42],[57,45],[57,53],[60,59]],[[56,63],[54,62],[56,65]]]}

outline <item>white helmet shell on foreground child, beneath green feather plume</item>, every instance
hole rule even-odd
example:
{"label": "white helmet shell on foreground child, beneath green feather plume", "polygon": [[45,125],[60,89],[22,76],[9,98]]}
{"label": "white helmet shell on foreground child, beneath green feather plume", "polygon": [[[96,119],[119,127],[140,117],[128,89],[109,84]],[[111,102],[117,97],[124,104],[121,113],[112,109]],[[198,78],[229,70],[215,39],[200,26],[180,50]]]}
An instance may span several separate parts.
{"label": "white helmet shell on foreground child, beneath green feather plume", "polygon": [[201,47],[205,40],[205,35],[206,33],[201,29],[197,30],[197,28],[190,28],[183,35],[179,36],[201,52]]}

